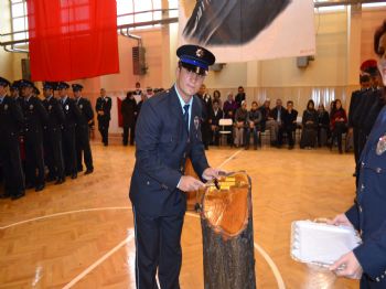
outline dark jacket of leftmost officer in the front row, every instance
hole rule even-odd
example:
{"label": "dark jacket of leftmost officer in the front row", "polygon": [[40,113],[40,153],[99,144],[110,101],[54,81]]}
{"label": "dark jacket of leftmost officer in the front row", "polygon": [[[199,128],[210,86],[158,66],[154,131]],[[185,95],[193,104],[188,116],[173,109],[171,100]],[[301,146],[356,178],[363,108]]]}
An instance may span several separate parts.
{"label": "dark jacket of leftmost officer in the front row", "polygon": [[8,146],[18,146],[19,132],[23,126],[23,114],[19,104],[6,96],[0,105],[0,138]]}

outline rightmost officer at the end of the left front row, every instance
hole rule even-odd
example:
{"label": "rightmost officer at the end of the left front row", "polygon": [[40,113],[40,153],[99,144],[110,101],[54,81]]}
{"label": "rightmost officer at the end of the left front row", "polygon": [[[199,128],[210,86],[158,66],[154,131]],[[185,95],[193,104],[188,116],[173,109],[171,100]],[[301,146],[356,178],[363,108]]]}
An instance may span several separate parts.
{"label": "rightmost officer at the end of the left front row", "polygon": [[81,110],[81,117],[76,125],[76,160],[77,171],[83,171],[82,154],[85,160],[86,171],[85,174],[93,173],[93,154],[92,147],[89,146],[89,131],[88,124],[94,119],[94,111],[92,103],[82,96],[83,86],[81,84],[73,84],[73,93],[75,97],[75,104]]}

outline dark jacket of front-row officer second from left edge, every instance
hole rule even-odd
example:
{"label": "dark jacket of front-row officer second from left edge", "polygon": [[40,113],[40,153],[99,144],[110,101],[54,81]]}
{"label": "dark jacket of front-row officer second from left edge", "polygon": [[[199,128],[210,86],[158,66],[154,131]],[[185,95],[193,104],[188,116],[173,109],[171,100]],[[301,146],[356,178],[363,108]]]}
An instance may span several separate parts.
{"label": "dark jacket of front-row officer second from left edge", "polygon": [[24,136],[30,141],[43,140],[43,127],[49,121],[49,114],[42,100],[35,96],[24,99]]}

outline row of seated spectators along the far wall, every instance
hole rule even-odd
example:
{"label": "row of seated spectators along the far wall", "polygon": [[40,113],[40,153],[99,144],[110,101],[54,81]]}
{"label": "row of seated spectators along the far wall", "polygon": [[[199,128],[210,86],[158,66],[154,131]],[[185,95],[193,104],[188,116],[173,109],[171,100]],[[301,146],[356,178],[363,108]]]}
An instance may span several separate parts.
{"label": "row of seated spectators along the far wall", "polygon": [[[342,152],[342,135],[346,131],[347,118],[340,99],[333,101],[331,115],[324,109],[323,104],[320,104],[317,110],[313,100],[310,99],[302,117],[298,117],[291,100],[287,101],[287,108],[285,108],[282,101],[277,99],[276,107],[272,109],[269,99],[260,107],[257,101],[253,101],[250,110],[247,108],[246,100],[239,108],[229,109],[228,100],[224,103],[223,109],[219,108],[218,100],[213,100],[212,110],[208,114],[210,138],[213,144],[218,146],[221,131],[228,130],[229,144],[249,149],[251,135],[254,149],[257,149],[261,144],[260,133],[269,131],[271,146],[280,148],[287,137],[288,148],[293,149],[294,131],[301,128],[300,148],[314,148],[317,143],[319,147],[328,143],[331,146],[336,141],[339,151]],[[232,119],[232,127],[223,128],[219,121],[223,118]]]}

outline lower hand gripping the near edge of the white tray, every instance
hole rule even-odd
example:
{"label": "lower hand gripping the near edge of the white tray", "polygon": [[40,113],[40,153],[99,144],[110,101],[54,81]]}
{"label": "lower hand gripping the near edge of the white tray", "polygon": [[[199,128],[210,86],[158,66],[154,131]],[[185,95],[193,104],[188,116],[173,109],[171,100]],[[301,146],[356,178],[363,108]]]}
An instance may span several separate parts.
{"label": "lower hand gripping the near edge of the white tray", "polygon": [[363,269],[361,264],[357,261],[353,251],[349,251],[336,260],[330,270],[336,276],[346,277],[350,279],[361,279]]}

